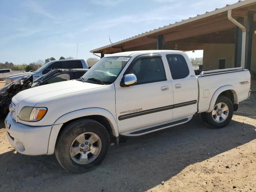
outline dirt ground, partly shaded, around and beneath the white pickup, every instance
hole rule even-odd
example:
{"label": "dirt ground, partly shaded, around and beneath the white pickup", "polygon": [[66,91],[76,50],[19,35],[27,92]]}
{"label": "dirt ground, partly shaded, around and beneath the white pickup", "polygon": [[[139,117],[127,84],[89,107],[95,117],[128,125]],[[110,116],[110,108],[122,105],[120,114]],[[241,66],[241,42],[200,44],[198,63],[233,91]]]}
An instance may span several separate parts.
{"label": "dirt ground, partly shaded, around and beneath the white pickup", "polygon": [[96,169],[72,174],[54,155],[25,156],[14,151],[1,119],[0,191],[255,192],[255,130],[256,94],[252,94],[226,128],[208,128],[196,115],[180,126],[122,138]]}

